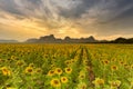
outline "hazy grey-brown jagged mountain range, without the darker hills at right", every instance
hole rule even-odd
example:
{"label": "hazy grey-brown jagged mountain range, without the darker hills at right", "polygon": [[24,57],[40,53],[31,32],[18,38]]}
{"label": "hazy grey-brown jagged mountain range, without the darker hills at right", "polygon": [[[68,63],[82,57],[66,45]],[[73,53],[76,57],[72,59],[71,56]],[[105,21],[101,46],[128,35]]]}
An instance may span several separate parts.
{"label": "hazy grey-brown jagged mountain range, without the darker hills at right", "polygon": [[98,42],[94,37],[89,38],[70,38],[65,37],[64,39],[55,38],[53,34],[40,37],[39,39],[28,39],[25,42],[37,42],[37,43],[89,43]]}

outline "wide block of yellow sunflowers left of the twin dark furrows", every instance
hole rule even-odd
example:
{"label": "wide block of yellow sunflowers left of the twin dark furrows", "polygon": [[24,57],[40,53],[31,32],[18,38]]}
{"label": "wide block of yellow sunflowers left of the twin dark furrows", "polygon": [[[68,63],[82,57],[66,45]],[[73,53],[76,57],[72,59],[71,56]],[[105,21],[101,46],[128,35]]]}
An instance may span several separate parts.
{"label": "wide block of yellow sunflowers left of the twin dark furrows", "polygon": [[[59,86],[65,89],[68,87],[65,83],[73,82],[71,77],[73,67],[69,67],[64,61],[79,56],[76,52],[79,46],[4,44],[0,47],[0,89],[50,89]],[[72,60],[74,63],[75,59]]]}

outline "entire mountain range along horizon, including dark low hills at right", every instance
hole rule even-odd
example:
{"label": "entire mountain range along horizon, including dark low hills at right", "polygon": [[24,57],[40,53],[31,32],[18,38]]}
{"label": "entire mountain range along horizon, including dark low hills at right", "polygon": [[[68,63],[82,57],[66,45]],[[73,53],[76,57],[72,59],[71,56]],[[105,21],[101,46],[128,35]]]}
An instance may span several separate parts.
{"label": "entire mountain range along horizon, including dark low hills at right", "polygon": [[88,38],[70,38],[65,37],[64,39],[55,38],[53,34],[43,36],[39,39],[32,38],[28,39],[25,42],[30,43],[133,43],[133,38],[116,38],[114,40],[96,40],[93,36]]}

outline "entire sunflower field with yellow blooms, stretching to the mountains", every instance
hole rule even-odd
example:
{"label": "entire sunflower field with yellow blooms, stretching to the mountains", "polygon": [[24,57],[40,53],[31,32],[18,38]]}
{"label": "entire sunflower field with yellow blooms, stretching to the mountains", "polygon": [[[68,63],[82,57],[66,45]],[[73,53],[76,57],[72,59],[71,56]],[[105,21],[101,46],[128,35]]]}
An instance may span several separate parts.
{"label": "entire sunflower field with yellow blooms, stretching to the mountains", "polygon": [[133,44],[0,44],[0,89],[133,89]]}

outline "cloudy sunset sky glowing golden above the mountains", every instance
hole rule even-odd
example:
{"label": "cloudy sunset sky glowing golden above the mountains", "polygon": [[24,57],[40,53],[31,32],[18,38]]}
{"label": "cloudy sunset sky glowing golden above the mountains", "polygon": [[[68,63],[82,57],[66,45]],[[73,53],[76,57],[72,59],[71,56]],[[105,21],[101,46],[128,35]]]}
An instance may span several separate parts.
{"label": "cloudy sunset sky glowing golden above the mountains", "polygon": [[133,0],[0,0],[0,39],[133,37]]}

